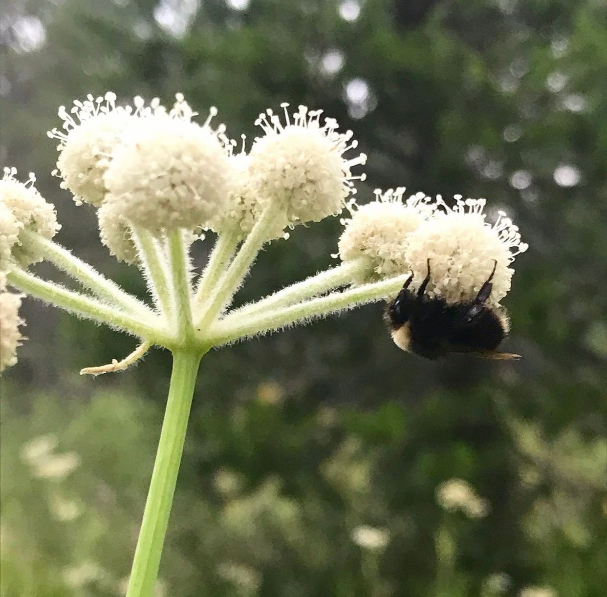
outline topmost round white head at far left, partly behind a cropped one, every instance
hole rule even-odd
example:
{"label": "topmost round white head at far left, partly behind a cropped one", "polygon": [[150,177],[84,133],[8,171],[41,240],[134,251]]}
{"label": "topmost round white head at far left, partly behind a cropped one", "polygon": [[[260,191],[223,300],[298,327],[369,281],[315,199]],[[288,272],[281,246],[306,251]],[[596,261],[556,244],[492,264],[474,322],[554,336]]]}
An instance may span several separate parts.
{"label": "topmost round white head at far left, partly behind a cropped one", "polygon": [[[17,223],[19,232],[28,230],[37,232],[44,238],[55,236],[59,228],[55,207],[42,197],[33,186],[36,177],[30,172],[27,182],[20,183],[16,180],[16,168],[5,168],[4,177],[0,180],[0,204],[3,204],[13,214]],[[5,210],[3,210],[5,212]],[[5,220],[5,216],[2,217]],[[7,234],[4,233],[4,226],[7,226]],[[27,267],[32,263],[41,261],[44,255],[32,251],[27,245],[21,245],[14,242],[15,226],[8,220],[2,223],[2,257],[5,246],[11,246],[12,255],[22,266]],[[11,244],[12,243],[12,244]]]}

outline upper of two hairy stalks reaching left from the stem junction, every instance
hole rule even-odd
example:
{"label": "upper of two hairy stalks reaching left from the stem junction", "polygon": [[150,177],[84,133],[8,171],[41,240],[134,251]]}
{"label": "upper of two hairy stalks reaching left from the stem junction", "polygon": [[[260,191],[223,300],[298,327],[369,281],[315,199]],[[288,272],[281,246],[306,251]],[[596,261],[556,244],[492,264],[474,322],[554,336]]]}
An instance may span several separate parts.
{"label": "upper of two hairy stalks reaching left from the stem junction", "polygon": [[66,274],[83,285],[84,288],[88,288],[94,292],[101,300],[120,306],[125,311],[133,314],[152,314],[144,303],[124,292],[112,280],[108,280],[95,271],[88,263],[84,263],[84,261],[72,255],[71,251],[64,249],[61,245],[27,230],[21,231],[19,238],[21,238],[22,242],[27,243],[28,246],[38,249],[38,251],[44,254],[46,260],[61,269],[61,271],[66,272]]}

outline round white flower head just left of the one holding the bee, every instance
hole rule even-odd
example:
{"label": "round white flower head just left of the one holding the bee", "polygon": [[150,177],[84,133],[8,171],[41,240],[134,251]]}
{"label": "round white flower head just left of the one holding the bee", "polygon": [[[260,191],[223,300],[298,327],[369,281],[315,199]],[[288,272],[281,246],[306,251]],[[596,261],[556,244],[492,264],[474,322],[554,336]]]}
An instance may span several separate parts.
{"label": "round white flower head just left of the one holding the bee", "polygon": [[344,232],[339,238],[339,257],[344,263],[365,260],[362,279],[357,283],[400,275],[409,270],[405,249],[410,234],[435,210],[430,197],[418,193],[402,201],[404,187],[375,191],[375,201],[348,205],[350,218],[342,220]]}

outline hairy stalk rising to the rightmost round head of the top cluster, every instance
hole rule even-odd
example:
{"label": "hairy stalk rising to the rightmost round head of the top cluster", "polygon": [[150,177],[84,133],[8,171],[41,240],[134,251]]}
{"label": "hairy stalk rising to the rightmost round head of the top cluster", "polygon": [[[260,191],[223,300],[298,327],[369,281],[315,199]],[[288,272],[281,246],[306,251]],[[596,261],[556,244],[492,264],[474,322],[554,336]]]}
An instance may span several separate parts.
{"label": "hairy stalk rising to the rightmost round head of the top cluster", "polygon": [[253,230],[246,237],[245,242],[240,247],[240,251],[230,263],[228,270],[223,274],[218,283],[217,291],[211,295],[208,303],[205,305],[205,312],[198,321],[196,328],[205,330],[211,322],[217,317],[224,305],[229,305],[232,297],[236,294],[249,271],[251,263],[257,257],[263,243],[268,240],[268,229],[276,217],[276,206],[268,205],[263,214],[257,220]]}

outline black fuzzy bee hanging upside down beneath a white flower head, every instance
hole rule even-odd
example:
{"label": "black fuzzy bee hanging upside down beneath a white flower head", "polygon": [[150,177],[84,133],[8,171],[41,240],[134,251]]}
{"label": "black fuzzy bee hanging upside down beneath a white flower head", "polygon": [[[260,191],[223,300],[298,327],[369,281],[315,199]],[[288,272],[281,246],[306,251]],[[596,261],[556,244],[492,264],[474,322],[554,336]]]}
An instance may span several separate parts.
{"label": "black fuzzy bee hanging upside down beneath a white flower head", "polygon": [[409,290],[411,274],[385,311],[396,345],[426,359],[438,359],[450,352],[467,352],[485,359],[520,359],[518,354],[496,351],[510,328],[506,309],[487,305],[496,267],[497,261],[474,300],[448,305],[444,299],[424,294],[430,282],[428,260],[428,274],[418,291]]}

